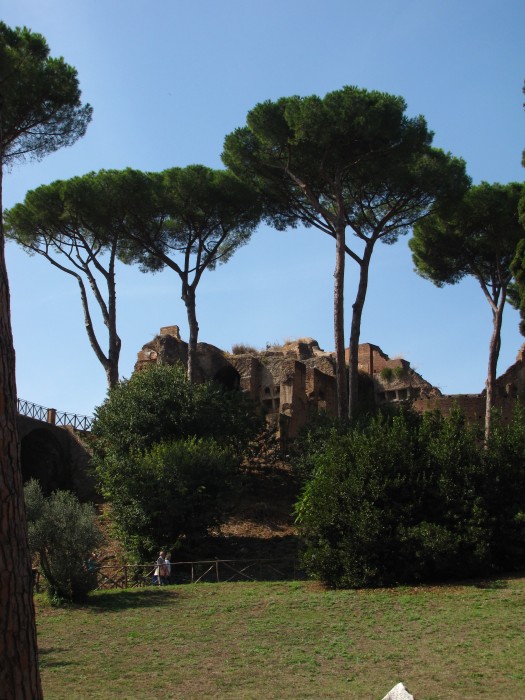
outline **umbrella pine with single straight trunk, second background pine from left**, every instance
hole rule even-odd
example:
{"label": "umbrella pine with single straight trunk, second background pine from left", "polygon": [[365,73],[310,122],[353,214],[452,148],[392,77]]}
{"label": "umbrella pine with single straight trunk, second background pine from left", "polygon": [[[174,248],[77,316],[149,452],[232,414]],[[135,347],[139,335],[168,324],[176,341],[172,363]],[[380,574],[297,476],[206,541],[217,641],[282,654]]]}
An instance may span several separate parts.
{"label": "umbrella pine with single straight trunk, second background pine from left", "polygon": [[256,193],[232,173],[203,165],[162,173],[126,171],[137,210],[125,220],[128,261],[144,272],[164,267],[181,281],[190,331],[188,376],[194,379],[199,325],[196,293],[205,270],[227,262],[250,238],[261,211]]}

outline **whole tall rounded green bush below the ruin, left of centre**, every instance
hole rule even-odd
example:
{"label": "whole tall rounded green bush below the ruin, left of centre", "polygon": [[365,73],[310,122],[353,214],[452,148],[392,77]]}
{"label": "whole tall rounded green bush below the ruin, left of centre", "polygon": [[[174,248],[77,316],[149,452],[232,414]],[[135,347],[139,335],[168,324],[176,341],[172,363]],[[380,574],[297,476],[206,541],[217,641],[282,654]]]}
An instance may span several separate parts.
{"label": "whole tall rounded green bush below the ruin, left of centre", "polygon": [[262,424],[245,394],[191,383],[181,365],[110,390],[95,413],[94,463],[129,553],[149,556],[213,525]]}

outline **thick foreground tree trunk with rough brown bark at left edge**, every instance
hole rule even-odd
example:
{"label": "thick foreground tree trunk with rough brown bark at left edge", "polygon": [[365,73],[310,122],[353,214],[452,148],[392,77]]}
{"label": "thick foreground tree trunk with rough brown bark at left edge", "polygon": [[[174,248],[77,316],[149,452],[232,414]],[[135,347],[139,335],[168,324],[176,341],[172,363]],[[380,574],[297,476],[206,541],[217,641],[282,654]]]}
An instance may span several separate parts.
{"label": "thick foreground tree trunk with rough brown bark at left edge", "polygon": [[38,700],[42,687],[16,429],[15,352],[1,221],[1,107],[0,101],[0,700]]}

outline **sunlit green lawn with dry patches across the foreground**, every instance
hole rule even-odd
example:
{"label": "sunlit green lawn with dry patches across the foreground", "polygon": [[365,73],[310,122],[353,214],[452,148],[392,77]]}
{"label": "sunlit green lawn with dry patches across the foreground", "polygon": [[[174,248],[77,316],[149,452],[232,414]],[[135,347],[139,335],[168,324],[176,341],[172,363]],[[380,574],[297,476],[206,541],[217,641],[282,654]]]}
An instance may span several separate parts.
{"label": "sunlit green lawn with dry patches across the foreground", "polygon": [[525,579],[327,591],[223,583],[37,596],[46,700],[521,698]]}

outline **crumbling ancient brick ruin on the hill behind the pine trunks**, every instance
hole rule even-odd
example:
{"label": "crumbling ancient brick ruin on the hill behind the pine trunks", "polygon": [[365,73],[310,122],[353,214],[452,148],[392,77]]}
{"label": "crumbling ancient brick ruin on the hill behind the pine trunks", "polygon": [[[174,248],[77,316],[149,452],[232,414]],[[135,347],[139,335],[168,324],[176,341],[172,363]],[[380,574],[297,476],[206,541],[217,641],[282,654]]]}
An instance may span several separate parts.
{"label": "crumbling ancient brick ruin on the hill behind the pine trunks", "polygon": [[[322,350],[316,340],[301,338],[261,351],[238,350],[230,353],[198,343],[197,381],[213,379],[247,391],[265,407],[268,422],[282,438],[295,437],[312,411],[335,415],[335,356]],[[140,350],[135,371],[153,363],[186,363],[187,357],[188,345],[178,326],[166,326]],[[361,344],[358,364],[364,388],[361,393],[368,394],[376,405],[410,401],[416,410],[439,408],[445,412],[459,405],[470,419],[484,419],[483,392],[443,396],[407,360],[391,359],[377,345]],[[516,364],[498,379],[496,393],[497,405],[508,417],[516,397],[525,395],[525,346]]]}

